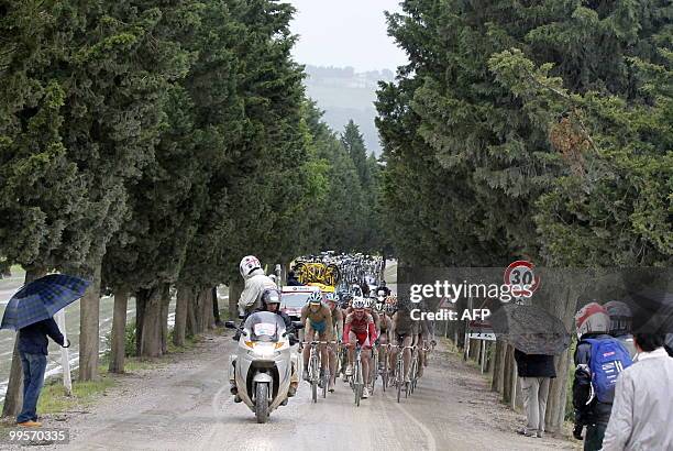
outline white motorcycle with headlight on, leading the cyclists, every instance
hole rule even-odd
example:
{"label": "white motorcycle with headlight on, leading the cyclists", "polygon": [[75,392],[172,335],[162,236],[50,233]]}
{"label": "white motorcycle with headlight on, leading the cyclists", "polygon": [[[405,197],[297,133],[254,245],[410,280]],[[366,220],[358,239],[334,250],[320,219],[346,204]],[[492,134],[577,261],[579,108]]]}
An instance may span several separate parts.
{"label": "white motorcycle with headlight on, leading the cyclists", "polygon": [[[235,329],[233,321],[225,327]],[[234,371],[241,400],[257,422],[266,422],[272,411],[287,404],[293,370],[289,333],[283,319],[268,311],[249,316],[240,332],[238,355],[230,358],[229,371]]]}

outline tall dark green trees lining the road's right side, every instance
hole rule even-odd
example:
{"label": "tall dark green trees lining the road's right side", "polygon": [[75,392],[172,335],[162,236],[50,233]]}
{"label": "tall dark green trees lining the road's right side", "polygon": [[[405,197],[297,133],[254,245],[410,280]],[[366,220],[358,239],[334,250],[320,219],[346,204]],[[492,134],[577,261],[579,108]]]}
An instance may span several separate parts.
{"label": "tall dark green trees lining the road's right side", "polygon": [[[400,261],[671,266],[672,14],[665,0],[404,1],[387,19],[409,64],[377,100]],[[569,330],[581,295],[547,306]],[[496,363],[511,367],[511,351],[498,342]],[[550,430],[567,366],[566,352]]]}

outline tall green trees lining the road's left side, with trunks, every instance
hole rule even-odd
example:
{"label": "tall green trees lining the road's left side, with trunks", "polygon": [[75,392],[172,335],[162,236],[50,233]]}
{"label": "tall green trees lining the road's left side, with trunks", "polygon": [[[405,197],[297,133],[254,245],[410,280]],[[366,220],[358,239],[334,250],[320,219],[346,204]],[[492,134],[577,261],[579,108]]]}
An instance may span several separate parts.
{"label": "tall green trees lining the road's left side, with trunks", "polygon": [[[275,0],[0,1],[0,265],[92,284],[80,381],[99,371],[100,294],[114,294],[110,370],[212,327],[213,287],[246,254],[373,252],[378,164],[302,87],[294,9]],[[375,224],[374,224],[375,226]],[[3,413],[20,405],[16,352]]]}

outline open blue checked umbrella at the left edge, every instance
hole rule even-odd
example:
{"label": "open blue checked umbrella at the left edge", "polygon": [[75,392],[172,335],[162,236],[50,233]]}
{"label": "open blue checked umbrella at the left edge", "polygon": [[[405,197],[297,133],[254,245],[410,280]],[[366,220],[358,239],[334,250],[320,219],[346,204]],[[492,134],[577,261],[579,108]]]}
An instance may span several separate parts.
{"label": "open blue checked umbrella at the left edge", "polygon": [[65,274],[49,274],[31,282],[9,300],[0,329],[19,330],[52,318],[84,296],[90,282]]}

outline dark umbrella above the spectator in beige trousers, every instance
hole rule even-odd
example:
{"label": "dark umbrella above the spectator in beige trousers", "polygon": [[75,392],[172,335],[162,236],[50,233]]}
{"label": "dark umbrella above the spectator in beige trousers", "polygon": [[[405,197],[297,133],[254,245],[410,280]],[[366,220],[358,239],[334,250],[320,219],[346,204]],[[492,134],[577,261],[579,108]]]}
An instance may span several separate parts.
{"label": "dark umbrella above the spectator in beige trousers", "polygon": [[561,354],[571,343],[563,322],[540,307],[507,304],[489,320],[497,337],[526,354]]}

